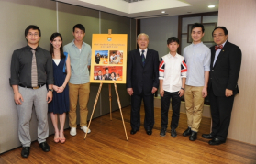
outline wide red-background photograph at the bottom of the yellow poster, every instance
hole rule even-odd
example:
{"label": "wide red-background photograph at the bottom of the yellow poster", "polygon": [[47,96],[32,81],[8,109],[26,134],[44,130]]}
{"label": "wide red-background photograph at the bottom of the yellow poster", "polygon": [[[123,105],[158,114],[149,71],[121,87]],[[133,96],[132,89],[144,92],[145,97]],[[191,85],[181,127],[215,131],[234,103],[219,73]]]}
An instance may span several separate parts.
{"label": "wide red-background photograph at the bottom of the yellow poster", "polygon": [[94,79],[101,81],[122,81],[122,66],[95,66]]}

